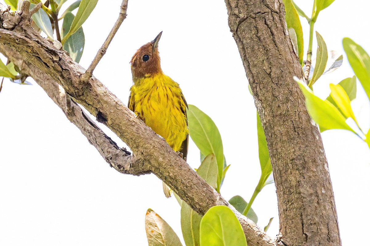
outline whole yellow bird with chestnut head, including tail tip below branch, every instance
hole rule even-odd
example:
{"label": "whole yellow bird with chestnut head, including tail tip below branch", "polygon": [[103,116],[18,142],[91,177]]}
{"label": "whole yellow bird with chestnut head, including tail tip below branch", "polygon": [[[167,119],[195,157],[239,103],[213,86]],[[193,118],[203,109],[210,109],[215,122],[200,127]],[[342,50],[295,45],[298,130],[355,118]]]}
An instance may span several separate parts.
{"label": "whole yellow bird with chestnut head, including tail tip below branch", "polygon": [[[161,68],[158,42],[160,32],[153,41],[142,45],[132,56],[131,72],[133,85],[130,88],[128,108],[147,126],[163,137],[169,146],[186,161],[189,129],[184,94]],[[163,182],[167,198],[171,189]]]}

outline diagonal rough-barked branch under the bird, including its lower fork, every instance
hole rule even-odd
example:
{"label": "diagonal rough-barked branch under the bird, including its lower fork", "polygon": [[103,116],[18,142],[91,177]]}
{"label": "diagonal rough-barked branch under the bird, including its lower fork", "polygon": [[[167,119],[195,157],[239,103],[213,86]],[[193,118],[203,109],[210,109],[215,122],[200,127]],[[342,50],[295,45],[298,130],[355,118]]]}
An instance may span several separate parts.
{"label": "diagonal rough-barked branch under the bird, including its lower fork", "polygon": [[[255,223],[237,212],[200,178],[162,137],[137,119],[100,81],[94,76],[82,81],[85,69],[30,27],[29,2],[24,3],[26,6],[16,15],[6,8],[0,11],[0,52],[46,90],[108,163],[123,173],[154,173],[201,215],[215,205],[229,206],[239,219],[249,245],[276,245]],[[67,97],[63,95],[63,90],[59,91],[57,83],[63,87]],[[83,105],[99,122],[127,143],[133,152],[132,156],[117,149],[115,143],[85,117],[74,101]]]}

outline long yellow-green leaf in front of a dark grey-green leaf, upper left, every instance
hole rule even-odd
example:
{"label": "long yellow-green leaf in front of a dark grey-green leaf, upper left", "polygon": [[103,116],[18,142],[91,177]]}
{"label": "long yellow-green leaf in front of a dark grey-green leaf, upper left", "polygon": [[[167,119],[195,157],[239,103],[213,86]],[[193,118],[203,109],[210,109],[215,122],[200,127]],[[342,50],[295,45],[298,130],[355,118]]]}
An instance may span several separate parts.
{"label": "long yellow-green leaf in front of a dark grey-green leaf, upper left", "polygon": [[84,22],[90,16],[92,10],[94,10],[97,3],[98,0],[81,0],[76,17],[72,22],[69,32],[64,36],[62,44],[64,44],[64,42],[69,38],[70,35],[74,34],[78,29],[80,29],[82,24],[84,24]]}

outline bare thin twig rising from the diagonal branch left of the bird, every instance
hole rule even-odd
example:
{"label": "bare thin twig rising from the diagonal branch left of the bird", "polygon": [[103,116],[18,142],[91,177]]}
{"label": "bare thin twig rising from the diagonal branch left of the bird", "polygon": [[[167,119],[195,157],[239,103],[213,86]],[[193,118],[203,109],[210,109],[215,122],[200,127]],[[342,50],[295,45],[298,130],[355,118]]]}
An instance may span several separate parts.
{"label": "bare thin twig rising from the diagonal branch left of the bird", "polygon": [[87,81],[88,79],[91,78],[92,72],[94,71],[95,67],[98,65],[101,58],[105,54],[105,51],[107,51],[109,44],[111,43],[114,35],[118,31],[118,28],[120,28],[122,22],[125,20],[126,12],[127,12],[127,3],[128,3],[128,0],[122,0],[120,15],[118,16],[118,19],[116,23],[114,24],[111,32],[109,33],[107,39],[105,40],[104,44],[99,49],[98,53],[95,55],[94,60],[91,62],[85,74],[82,76],[82,81]]}

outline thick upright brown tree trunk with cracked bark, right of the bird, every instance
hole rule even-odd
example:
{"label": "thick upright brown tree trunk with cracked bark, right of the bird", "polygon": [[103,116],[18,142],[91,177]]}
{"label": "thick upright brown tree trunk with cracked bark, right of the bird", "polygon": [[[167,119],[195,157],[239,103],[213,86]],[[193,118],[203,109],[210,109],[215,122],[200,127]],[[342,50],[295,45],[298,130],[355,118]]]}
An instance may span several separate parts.
{"label": "thick upright brown tree trunk with cracked bark, right of the bird", "polygon": [[341,245],[321,135],[293,76],[302,68],[282,0],[225,0],[266,134],[279,206],[279,242]]}

